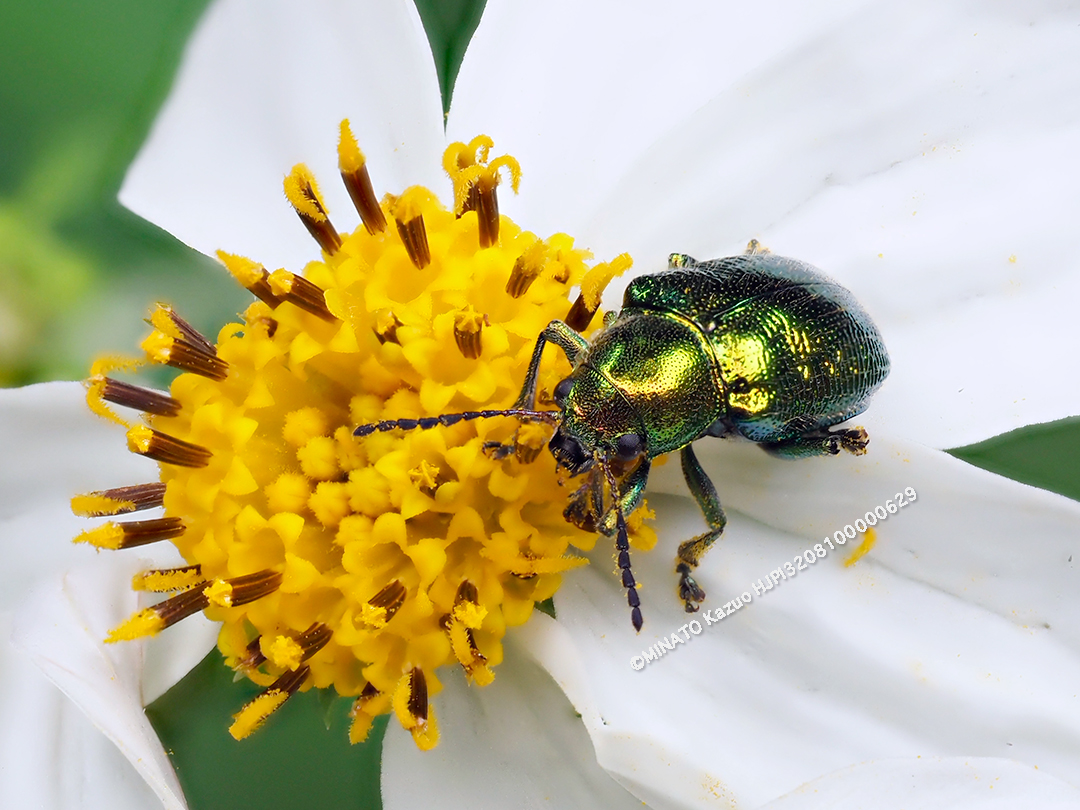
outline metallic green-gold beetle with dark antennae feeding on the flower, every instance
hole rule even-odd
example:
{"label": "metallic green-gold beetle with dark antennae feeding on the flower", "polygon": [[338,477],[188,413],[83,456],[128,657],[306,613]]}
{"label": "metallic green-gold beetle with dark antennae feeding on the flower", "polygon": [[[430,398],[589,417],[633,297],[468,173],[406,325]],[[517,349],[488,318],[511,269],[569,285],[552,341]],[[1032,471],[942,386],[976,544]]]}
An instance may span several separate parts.
{"label": "metallic green-gold beetle with dark antennae feeding on the flower", "polygon": [[[558,410],[536,410],[548,342],[566,353],[573,370],[553,392]],[[652,459],[680,450],[687,486],[708,525],[676,556],[679,598],[693,612],[705,593],[691,571],[726,518],[691,443],[743,436],[783,458],[861,455],[866,431],[829,428],[862,413],[888,374],[881,336],[851,293],[753,241],[744,255],[712,261],[672,254],[666,271],[631,282],[622,310],[591,341],[552,321],[512,408],[389,420],[361,426],[355,434],[494,416],[554,424],[548,446],[556,463],[571,476],[589,474],[564,514],[586,531],[616,537],[631,621],[639,631],[625,516],[642,501]],[[502,457],[514,447],[486,449]]]}

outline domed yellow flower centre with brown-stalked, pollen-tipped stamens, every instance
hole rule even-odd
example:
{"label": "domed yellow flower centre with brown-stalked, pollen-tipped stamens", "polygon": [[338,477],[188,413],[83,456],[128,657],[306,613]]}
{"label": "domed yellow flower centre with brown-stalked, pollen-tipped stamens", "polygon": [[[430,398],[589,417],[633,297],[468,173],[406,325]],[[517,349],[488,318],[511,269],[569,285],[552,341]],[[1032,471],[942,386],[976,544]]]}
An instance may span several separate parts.
{"label": "domed yellow flower centre with brown-stalked, pollen-tipped stamens", "polygon": [[[507,417],[353,435],[384,419],[430,427],[509,407],[540,332],[555,319],[598,328],[600,293],[631,264],[590,266],[567,234],[540,239],[500,215],[500,179],[516,191],[521,168],[509,156],[489,161],[491,148],[480,136],[446,150],[453,210],[420,187],[379,201],[343,121],[339,164],[360,227],[339,232],[314,176],[294,167],[285,195],[320,259],[296,274],[219,252],[257,299],[240,323],[215,343],[158,305],[146,360],[108,356],[91,369],[91,409],[127,428],[129,448],[159,462],[160,481],[77,496],[77,514],[106,519],[76,541],[168,541],[187,563],[136,576],[135,590],[171,595],[107,640],[199,611],[221,622],[227,663],[266,687],[234,715],[237,739],[314,687],[354,699],[352,742],[393,713],[431,748],[438,669],[491,683],[507,627],[586,562],[571,549],[596,541],[564,519],[569,492],[542,453],[550,424]],[[146,362],[180,372],[167,394],[110,376]],[[552,352],[541,404],[569,372]],[[144,416],[129,421],[110,405]],[[486,453],[495,443],[516,451]],[[161,516],[114,519],[144,510]],[[656,542],[647,514],[630,521],[639,549]]]}

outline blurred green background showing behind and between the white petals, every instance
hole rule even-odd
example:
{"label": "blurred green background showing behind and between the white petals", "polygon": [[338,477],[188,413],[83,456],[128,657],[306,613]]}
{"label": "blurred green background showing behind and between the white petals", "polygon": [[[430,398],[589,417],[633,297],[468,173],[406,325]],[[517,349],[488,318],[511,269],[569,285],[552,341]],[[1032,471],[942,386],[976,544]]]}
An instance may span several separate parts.
{"label": "blurred green background showing behind and between the white petals", "polygon": [[[484,2],[416,2],[448,108]],[[216,262],[116,200],[206,4],[0,2],[0,386],[79,379],[95,354],[132,353],[154,300],[208,334],[249,300]],[[1080,420],[954,454],[1080,499]],[[384,721],[350,747],[345,703],[309,692],[235,743],[229,716],[254,693],[212,653],[149,707],[192,808],[380,806]]]}

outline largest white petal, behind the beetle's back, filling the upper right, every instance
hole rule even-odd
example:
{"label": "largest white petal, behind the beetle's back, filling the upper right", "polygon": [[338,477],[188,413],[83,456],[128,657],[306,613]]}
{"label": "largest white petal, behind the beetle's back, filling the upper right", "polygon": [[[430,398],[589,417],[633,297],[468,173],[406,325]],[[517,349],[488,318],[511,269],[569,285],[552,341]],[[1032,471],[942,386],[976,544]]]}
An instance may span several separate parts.
{"label": "largest white petal, behind the beetle's back, filling the upper right", "polygon": [[873,418],[897,434],[959,446],[1077,413],[1075,11],[573,5],[489,4],[462,66],[450,134],[523,160],[508,213],[636,272],[751,237],[819,265],[882,328]]}

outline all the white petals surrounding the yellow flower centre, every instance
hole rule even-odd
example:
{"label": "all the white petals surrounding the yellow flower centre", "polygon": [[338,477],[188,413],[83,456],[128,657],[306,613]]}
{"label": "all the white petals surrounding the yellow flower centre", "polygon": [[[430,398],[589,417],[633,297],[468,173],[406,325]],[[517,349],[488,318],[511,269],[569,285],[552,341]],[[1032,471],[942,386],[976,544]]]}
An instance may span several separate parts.
{"label": "all the white petals surrounding the yellow flower centre", "polygon": [[[634,558],[645,632],[631,632],[598,550],[556,596],[557,624],[530,621],[491,687],[447,689],[434,752],[391,727],[388,808],[433,794],[441,806],[635,802],[595,761],[658,807],[1076,806],[1080,507],[926,446],[1078,409],[1080,382],[1065,373],[1080,292],[1077,16],[1049,4],[489,2],[444,136],[411,3],[212,8],[122,193],[194,247],[301,268],[312,246],[278,184],[300,160],[333,176],[327,144],[343,117],[383,188],[442,187],[446,138],[486,132],[525,167],[528,193],[504,211],[529,228],[566,230],[597,255],[627,249],[637,271],[756,237],[850,287],[893,361],[860,418],[873,441],[863,458],[781,462],[699,445],[730,517],[701,569],[706,607],[913,487],[918,499],[879,527],[868,557],[845,568],[847,552],[831,553],[634,672],[631,657],[688,618],[670,555],[701,518],[670,464],[651,482],[677,496],[654,501],[661,543]],[[348,210],[325,191],[332,211]],[[0,400],[15,460],[0,500],[5,609],[18,583],[79,556],[67,497],[132,480],[119,433],[100,449],[109,431],[76,399],[73,387],[41,387]],[[22,638],[177,807],[137,712],[137,648],[103,658],[98,644],[112,612],[131,608],[106,602],[132,598],[106,572],[123,565],[110,557],[92,577],[68,575],[63,592],[44,586]],[[49,759],[67,738],[46,733],[41,713],[67,723],[68,704],[39,697],[52,702],[33,708],[24,696],[52,693],[16,659],[0,663],[3,699],[22,710],[2,762],[27,762],[28,777],[0,789],[23,804],[92,806],[113,789],[113,806],[145,804],[84,723],[93,753],[63,769]],[[33,752],[45,754],[30,764]],[[79,792],[64,794],[68,784]]]}

